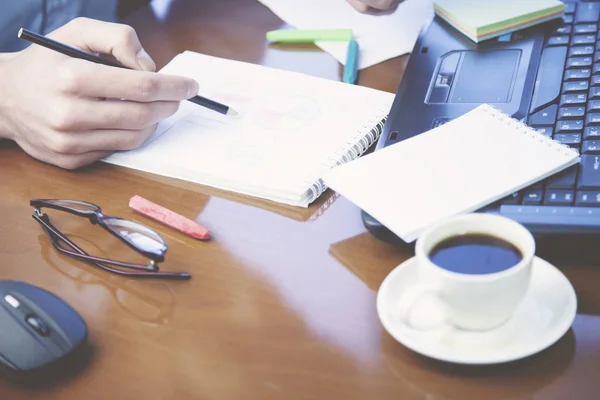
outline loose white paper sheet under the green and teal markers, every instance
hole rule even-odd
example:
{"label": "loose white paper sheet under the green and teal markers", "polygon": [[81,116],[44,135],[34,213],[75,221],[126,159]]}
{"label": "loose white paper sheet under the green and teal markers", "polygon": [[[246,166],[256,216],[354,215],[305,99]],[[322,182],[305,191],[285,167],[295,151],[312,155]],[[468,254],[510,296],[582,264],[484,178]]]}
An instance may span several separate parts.
{"label": "loose white paper sheet under the green and teal markers", "polygon": [[[432,0],[402,0],[390,14],[356,11],[346,0],[259,0],[296,29],[352,29],[360,48],[359,68],[367,68],[412,51],[423,24],[433,16]],[[317,42],[340,63],[343,42]]]}

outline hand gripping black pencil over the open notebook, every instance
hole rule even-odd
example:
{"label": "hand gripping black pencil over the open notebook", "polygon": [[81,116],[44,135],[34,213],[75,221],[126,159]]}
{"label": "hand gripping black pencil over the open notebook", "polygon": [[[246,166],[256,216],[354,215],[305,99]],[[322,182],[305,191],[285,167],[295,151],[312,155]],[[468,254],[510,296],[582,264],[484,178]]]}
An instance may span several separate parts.
{"label": "hand gripping black pencil over the open notebook", "polygon": [[151,72],[155,64],[129,26],[77,18],[48,36],[135,70],[38,45],[0,55],[0,138],[41,161],[75,169],[134,149],[198,93],[192,79]]}

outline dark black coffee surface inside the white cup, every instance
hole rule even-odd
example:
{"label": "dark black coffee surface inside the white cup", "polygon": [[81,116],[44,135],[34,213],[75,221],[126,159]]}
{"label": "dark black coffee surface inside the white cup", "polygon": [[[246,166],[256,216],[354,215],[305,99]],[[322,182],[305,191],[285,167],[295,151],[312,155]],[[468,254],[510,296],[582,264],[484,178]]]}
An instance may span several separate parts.
{"label": "dark black coffee surface inside the white cup", "polygon": [[482,234],[467,234],[440,242],[429,253],[429,258],[448,271],[492,274],[516,265],[523,255],[505,240]]}

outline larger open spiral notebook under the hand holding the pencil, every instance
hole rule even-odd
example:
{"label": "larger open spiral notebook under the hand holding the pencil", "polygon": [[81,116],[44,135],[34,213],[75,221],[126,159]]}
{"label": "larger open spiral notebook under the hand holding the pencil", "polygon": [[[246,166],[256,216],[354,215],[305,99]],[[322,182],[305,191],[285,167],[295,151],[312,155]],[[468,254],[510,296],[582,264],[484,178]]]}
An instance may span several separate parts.
{"label": "larger open spiral notebook under the hand holding the pencil", "polygon": [[322,176],[379,137],[392,93],[194,52],[161,73],[198,81],[239,114],[184,102],[150,139],[103,161],[278,203],[307,207]]}

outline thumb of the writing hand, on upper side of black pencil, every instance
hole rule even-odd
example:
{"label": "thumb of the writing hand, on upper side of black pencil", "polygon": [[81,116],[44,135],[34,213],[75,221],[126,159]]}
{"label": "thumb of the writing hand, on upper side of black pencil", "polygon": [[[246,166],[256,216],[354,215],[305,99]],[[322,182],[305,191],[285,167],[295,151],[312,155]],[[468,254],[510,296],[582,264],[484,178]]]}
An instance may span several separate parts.
{"label": "thumb of the writing hand, on upper side of black pencil", "polygon": [[75,18],[48,36],[85,51],[110,54],[129,68],[142,71],[156,69],[156,64],[129,25]]}

